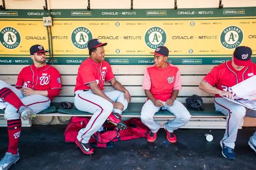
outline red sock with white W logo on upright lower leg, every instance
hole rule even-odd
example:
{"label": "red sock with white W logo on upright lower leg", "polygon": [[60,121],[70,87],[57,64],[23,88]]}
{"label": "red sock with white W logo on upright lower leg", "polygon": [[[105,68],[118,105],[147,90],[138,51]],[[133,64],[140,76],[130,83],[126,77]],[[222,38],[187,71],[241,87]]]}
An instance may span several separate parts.
{"label": "red sock with white W logo on upright lower leg", "polygon": [[20,131],[22,130],[22,120],[14,119],[7,120],[8,127],[8,136],[9,136],[9,145],[8,151],[12,154],[17,154],[18,152],[18,139],[20,135]]}

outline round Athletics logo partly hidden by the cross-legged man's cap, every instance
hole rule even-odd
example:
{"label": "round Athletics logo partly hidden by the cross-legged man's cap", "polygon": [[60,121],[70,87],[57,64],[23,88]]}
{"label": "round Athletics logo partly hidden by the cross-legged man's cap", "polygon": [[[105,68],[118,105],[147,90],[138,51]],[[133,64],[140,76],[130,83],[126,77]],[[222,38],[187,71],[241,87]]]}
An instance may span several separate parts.
{"label": "round Athletics logo partly hidden by the cross-legged man's cap", "polygon": [[85,27],[77,27],[71,34],[73,45],[79,49],[87,48],[87,43],[93,38],[92,33]]}

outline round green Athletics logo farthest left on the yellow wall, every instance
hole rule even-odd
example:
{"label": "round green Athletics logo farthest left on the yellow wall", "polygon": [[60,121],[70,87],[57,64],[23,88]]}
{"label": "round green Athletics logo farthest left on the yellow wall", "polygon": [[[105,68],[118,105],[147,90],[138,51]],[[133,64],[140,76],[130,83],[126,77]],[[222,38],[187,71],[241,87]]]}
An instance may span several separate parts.
{"label": "round green Athletics logo farthest left on the yellow wall", "polygon": [[20,35],[15,28],[5,27],[0,32],[0,41],[4,47],[14,49],[20,44]]}

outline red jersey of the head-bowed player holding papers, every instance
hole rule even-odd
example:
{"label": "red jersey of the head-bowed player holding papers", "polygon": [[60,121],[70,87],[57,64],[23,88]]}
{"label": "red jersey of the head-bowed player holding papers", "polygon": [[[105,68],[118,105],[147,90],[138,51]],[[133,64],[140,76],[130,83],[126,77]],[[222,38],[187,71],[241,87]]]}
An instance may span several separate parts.
{"label": "red jersey of the head-bowed player holding papers", "polygon": [[[256,64],[251,63],[250,66],[245,66],[242,70],[237,71],[231,65],[231,61],[222,63],[212,68],[212,70],[203,78],[203,81],[216,86],[216,88],[223,91],[230,91],[231,87],[250,78],[256,74]],[[233,93],[233,95],[235,95]],[[216,97],[220,95],[216,94]]]}

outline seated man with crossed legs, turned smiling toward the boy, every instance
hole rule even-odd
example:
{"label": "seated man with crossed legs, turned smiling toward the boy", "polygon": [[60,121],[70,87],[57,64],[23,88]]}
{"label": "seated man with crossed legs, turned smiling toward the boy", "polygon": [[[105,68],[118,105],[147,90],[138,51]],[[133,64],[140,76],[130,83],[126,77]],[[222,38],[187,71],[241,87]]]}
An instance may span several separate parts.
{"label": "seated man with crossed legs, turned smiling toward the boy", "polygon": [[[106,44],[98,39],[88,42],[90,57],[81,63],[76,78],[74,104],[78,110],[93,113],[88,125],[79,131],[75,141],[82,152],[88,155],[94,153],[89,139],[106,119],[116,125],[117,129],[126,128],[120,115],[131,101],[129,91],[115,79],[110,64],[104,61],[103,46]],[[104,81],[110,82],[115,90],[103,92]]]}

